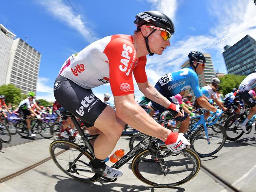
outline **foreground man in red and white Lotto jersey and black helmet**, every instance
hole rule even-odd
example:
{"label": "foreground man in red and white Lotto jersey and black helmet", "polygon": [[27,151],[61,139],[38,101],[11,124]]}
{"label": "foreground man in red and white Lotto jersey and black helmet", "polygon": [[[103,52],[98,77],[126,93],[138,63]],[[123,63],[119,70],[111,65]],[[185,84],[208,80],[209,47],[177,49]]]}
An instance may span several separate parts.
{"label": "foreground man in red and white Lotto jersey and black helmet", "polygon": [[[132,74],[147,98],[179,116],[184,115],[179,105],[171,103],[148,82],[145,72],[146,55],[161,55],[170,46],[173,22],[159,11],[145,11],[136,15],[134,23],[137,26],[134,35],[104,37],[71,55],[54,84],[54,96],[59,104],[86,122],[86,127],[94,126],[101,131],[94,143],[91,168],[107,178],[122,175],[121,170],[106,166],[104,160],[113,151],[125,123],[165,141],[170,150],[179,151],[190,145],[182,133],[173,133],[160,126],[134,99]],[[110,83],[116,111],[91,90],[105,83]]]}

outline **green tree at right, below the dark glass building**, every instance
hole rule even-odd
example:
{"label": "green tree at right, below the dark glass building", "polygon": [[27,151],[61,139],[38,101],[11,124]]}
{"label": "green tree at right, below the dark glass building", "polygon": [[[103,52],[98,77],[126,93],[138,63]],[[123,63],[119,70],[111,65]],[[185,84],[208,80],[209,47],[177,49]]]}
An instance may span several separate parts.
{"label": "green tree at right, below the dark glass building", "polygon": [[221,83],[219,85],[219,92],[223,95],[232,92],[232,89],[238,89],[240,83],[243,81],[244,78],[247,76],[241,75],[225,75],[224,77],[219,78]]}

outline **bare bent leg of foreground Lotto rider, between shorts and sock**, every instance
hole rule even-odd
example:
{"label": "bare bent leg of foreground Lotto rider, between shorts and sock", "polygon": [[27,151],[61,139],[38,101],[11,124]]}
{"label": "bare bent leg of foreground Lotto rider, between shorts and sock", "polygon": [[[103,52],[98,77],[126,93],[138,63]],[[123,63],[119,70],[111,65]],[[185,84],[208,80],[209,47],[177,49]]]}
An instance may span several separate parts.
{"label": "bare bent leg of foreground Lotto rider, between shorts and sock", "polygon": [[115,110],[107,106],[96,119],[95,127],[102,132],[94,143],[95,157],[106,159],[122,134],[124,122],[116,116]]}

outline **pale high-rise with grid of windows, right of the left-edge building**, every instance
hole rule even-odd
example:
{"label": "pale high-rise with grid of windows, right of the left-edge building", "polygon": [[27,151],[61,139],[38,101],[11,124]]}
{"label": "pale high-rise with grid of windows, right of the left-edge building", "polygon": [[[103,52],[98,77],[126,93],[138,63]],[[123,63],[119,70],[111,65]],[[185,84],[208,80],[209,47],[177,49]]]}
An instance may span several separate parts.
{"label": "pale high-rise with grid of windows, right of the left-edge building", "polygon": [[41,53],[20,38],[13,41],[6,74],[6,84],[12,83],[23,94],[36,92]]}

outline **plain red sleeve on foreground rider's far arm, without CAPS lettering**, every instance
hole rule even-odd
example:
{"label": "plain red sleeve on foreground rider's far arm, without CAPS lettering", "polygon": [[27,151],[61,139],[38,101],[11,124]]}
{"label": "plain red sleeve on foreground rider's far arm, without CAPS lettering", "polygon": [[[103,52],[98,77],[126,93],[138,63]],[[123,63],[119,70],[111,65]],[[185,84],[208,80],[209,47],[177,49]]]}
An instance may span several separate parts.
{"label": "plain red sleeve on foreground rider's far arm, without CAPS lettering", "polygon": [[137,83],[145,83],[148,78],[147,78],[147,74],[145,71],[145,66],[147,63],[147,57],[143,56],[143,57],[139,57],[137,65],[135,64],[134,67],[134,78],[136,79]]}

